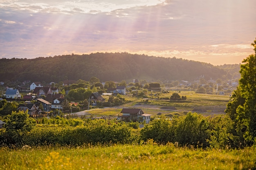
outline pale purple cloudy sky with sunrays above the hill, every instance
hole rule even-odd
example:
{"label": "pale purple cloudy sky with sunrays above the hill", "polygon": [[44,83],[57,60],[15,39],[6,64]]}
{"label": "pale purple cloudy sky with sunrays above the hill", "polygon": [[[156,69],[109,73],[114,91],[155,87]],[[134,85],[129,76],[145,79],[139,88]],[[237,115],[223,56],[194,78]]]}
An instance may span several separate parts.
{"label": "pale purple cloudy sky with sunrays above the hill", "polygon": [[256,0],[0,0],[0,58],[128,52],[213,65],[253,54]]}

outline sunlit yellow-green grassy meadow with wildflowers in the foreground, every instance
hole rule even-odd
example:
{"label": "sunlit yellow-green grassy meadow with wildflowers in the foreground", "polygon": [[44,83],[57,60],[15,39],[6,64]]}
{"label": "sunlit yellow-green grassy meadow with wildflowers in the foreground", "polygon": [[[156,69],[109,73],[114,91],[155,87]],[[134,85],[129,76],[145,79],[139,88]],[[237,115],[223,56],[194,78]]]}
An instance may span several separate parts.
{"label": "sunlit yellow-green grassy meadow with wildflowers in the foreground", "polygon": [[114,145],[79,147],[0,148],[0,170],[191,170],[255,169],[256,149],[201,150],[158,146]]}

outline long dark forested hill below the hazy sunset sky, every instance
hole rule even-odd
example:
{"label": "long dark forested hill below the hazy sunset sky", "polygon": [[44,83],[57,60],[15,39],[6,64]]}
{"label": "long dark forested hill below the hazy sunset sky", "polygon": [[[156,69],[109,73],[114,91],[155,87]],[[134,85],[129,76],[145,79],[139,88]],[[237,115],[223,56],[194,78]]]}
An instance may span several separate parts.
{"label": "long dark forested hill below the hazy sunset sky", "polygon": [[192,81],[202,75],[205,79],[227,76],[224,68],[207,63],[129,53],[72,54],[35,59],[2,58],[0,68],[0,81],[88,81],[91,77],[97,77],[101,82],[130,79]]}

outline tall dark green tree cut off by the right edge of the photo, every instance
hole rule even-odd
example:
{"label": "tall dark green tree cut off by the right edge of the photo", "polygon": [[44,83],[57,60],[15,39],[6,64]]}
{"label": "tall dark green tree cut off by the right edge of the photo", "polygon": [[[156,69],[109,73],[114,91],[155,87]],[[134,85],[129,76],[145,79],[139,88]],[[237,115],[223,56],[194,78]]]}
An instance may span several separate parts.
{"label": "tall dark green tree cut off by the right edge of the photo", "polygon": [[255,54],[241,64],[239,86],[232,94],[225,112],[234,121],[236,135],[248,145],[256,142],[256,40],[252,43]]}

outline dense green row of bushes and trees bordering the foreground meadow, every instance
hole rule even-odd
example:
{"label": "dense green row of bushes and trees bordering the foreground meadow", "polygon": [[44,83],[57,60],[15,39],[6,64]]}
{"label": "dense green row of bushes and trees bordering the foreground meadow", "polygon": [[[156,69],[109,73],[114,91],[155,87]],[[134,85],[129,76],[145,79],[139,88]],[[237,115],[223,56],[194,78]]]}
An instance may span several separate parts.
{"label": "dense green row of bushes and trees bordering the foreground meadow", "polygon": [[[138,122],[117,120],[69,119],[56,117],[36,121],[19,111],[7,116],[6,129],[0,131],[0,145],[47,146],[88,144],[143,144],[153,140],[157,144],[199,148],[243,148],[250,143],[236,132],[234,121],[228,115],[203,117],[197,113],[159,119],[139,129]],[[51,126],[55,124],[58,126]],[[137,130],[133,130],[137,129]]]}

